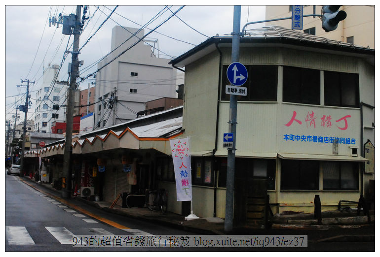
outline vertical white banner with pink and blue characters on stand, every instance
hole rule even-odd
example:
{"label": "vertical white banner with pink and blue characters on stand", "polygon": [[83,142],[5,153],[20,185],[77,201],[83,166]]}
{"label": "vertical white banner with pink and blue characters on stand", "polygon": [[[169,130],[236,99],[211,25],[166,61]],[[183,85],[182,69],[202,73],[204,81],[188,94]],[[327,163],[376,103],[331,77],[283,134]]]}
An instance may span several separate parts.
{"label": "vertical white banner with pink and blue characters on stand", "polygon": [[190,201],[192,193],[189,137],[171,139],[170,147],[176,178],[177,201]]}

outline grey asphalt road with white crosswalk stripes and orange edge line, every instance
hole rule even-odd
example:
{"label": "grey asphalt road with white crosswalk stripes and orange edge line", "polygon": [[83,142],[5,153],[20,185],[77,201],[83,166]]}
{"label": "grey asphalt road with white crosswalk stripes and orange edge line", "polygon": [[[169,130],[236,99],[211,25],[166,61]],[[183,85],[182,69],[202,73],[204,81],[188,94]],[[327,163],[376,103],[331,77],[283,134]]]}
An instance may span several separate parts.
{"label": "grey asphalt road with white crosswalk stripes and orange edge line", "polygon": [[[28,185],[29,184],[29,185]],[[375,242],[316,242],[342,233],[339,231],[270,231],[270,234],[307,234],[307,248],[110,248],[73,247],[74,235],[191,235],[159,223],[137,220],[90,206],[82,201],[57,200],[58,193],[18,176],[5,175],[5,251],[6,252],[367,252],[375,251]],[[75,205],[76,208],[71,206]],[[95,218],[94,218],[95,217]],[[372,233],[372,227],[366,228]],[[356,230],[356,231],[355,231]],[[262,233],[264,231],[261,231]],[[264,232],[265,234],[268,231]],[[367,233],[368,231],[362,231]],[[375,231],[373,231],[374,234]],[[256,234],[256,233],[255,233]],[[260,234],[260,233],[257,233]],[[309,239],[309,240],[310,240]]]}

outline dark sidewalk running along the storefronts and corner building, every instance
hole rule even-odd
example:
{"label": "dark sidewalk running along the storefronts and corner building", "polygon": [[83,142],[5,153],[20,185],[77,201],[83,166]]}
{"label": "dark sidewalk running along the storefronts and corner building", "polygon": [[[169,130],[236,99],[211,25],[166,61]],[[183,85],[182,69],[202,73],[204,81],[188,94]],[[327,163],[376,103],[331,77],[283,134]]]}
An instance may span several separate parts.
{"label": "dark sidewalk running along the storefronts and corner building", "polygon": [[[31,182],[37,188],[43,188],[58,197],[61,197],[61,191],[54,189],[50,184],[38,183],[29,177],[20,178],[23,181]],[[142,219],[162,225],[176,227],[185,231],[191,231],[199,234],[227,234],[224,231],[224,220],[221,218],[200,218],[186,221],[185,216],[172,212],[165,214],[160,211],[151,211],[148,208],[122,208],[115,205],[110,208],[110,202],[105,201],[88,201],[82,197],[73,197],[71,200],[84,202],[88,205],[106,210],[111,213]],[[238,227],[234,228],[228,234],[308,234],[308,239],[315,242],[371,242],[375,240],[375,215],[371,213],[371,222],[369,223],[366,216],[356,216],[356,212],[342,213],[339,211],[324,212],[322,214],[322,225],[317,224],[313,219],[313,214],[297,215],[275,215],[272,218],[272,228],[252,228]],[[325,232],[323,232],[325,231]]]}

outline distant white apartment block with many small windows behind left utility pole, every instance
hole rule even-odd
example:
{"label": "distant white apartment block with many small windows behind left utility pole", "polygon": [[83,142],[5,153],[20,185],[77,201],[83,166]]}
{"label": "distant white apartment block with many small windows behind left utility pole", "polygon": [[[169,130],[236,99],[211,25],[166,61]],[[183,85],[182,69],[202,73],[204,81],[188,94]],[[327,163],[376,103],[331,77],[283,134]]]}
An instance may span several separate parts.
{"label": "distant white apartment block with many small windows behind left utility pole", "polygon": [[[57,81],[59,65],[53,64],[43,72],[42,85],[36,93],[36,109],[33,116],[34,130],[50,133],[55,122],[66,120],[67,81]],[[75,94],[75,105],[78,105],[79,91]],[[33,97],[32,97],[33,98]],[[78,113],[77,108],[74,115]]]}

